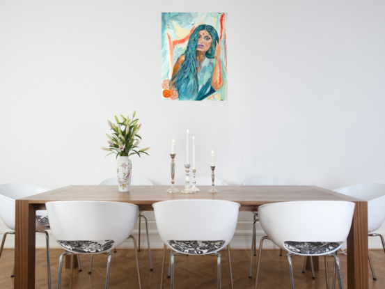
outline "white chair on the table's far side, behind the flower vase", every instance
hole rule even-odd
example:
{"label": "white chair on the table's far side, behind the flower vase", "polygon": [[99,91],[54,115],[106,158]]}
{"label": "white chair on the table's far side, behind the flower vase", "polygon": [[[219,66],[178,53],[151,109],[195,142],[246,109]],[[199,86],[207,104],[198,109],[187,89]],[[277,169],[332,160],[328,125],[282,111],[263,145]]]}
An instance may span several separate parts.
{"label": "white chair on the table's far side, behind the flower vase", "polygon": [[[107,180],[104,180],[103,182],[101,182],[99,185],[102,185],[102,186],[118,185],[118,177],[108,178]],[[152,182],[147,178],[139,177],[138,175],[132,175],[131,185],[132,186],[152,186]],[[138,251],[141,251],[141,218],[143,218],[144,221],[146,222],[148,257],[150,258],[150,271],[152,271],[151,246],[150,246],[150,237],[148,235],[148,221],[147,221],[147,217],[142,213],[143,211],[139,211]],[[90,263],[90,269],[88,271],[88,274],[91,274],[92,259],[93,259],[93,256],[91,256],[91,263]]]}

